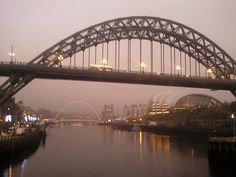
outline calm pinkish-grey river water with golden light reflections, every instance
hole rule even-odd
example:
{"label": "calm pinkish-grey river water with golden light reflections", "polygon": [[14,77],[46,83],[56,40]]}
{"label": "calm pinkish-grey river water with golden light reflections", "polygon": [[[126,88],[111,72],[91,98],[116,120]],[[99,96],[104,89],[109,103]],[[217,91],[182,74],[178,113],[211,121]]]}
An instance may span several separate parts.
{"label": "calm pinkish-grey river water with golden light reflections", "polygon": [[92,125],[50,128],[36,152],[0,173],[4,177],[211,177],[206,140]]}

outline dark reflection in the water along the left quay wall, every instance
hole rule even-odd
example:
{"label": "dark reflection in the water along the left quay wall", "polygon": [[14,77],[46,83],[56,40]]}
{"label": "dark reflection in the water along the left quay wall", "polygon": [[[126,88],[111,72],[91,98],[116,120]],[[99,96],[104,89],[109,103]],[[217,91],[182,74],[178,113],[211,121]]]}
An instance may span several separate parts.
{"label": "dark reflection in the water along the left quay wall", "polygon": [[[40,147],[40,145],[45,147],[46,136],[42,136],[38,141],[32,144],[31,147],[26,150],[21,151],[21,153],[13,154],[11,157],[1,157],[0,158],[0,175],[3,177],[13,177],[13,168],[16,174],[21,174],[24,176],[24,171],[27,166],[27,162]],[[17,175],[17,176],[18,176]]]}

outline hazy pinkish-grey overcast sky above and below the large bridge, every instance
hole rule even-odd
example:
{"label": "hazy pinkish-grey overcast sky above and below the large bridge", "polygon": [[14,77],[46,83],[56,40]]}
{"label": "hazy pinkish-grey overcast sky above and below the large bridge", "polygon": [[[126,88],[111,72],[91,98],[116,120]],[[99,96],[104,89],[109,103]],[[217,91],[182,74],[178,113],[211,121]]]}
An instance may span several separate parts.
{"label": "hazy pinkish-grey overcast sky above and below the large bridge", "polygon": [[[125,16],[154,16],[183,23],[216,42],[236,58],[235,0],[0,0],[0,60],[9,61],[11,45],[17,61],[28,62],[67,36],[91,25]],[[1,78],[3,81],[3,78]],[[33,80],[16,100],[53,111],[74,100],[95,110],[104,104],[147,103],[156,94],[176,91],[214,95],[232,101],[229,92],[82,81]],[[73,109],[88,109],[81,104]]]}

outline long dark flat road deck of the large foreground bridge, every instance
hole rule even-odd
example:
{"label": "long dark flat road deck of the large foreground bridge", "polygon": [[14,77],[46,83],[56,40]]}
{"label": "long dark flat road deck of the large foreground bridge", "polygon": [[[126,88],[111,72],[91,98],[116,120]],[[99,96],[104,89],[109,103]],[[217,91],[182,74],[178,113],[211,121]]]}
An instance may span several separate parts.
{"label": "long dark flat road deck of the large foreground bridge", "polygon": [[79,67],[48,67],[37,64],[0,63],[0,75],[33,75],[40,79],[65,79],[100,81],[113,83],[133,83],[147,85],[166,85],[209,88],[217,90],[236,90],[236,80],[213,79],[210,77],[192,77],[185,75],[157,74],[150,72],[127,71],[91,71]]}

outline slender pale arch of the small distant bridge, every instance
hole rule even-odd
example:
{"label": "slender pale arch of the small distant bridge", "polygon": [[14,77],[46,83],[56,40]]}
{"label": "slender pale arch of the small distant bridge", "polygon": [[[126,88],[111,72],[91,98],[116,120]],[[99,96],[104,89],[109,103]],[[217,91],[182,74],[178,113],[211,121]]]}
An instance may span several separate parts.
{"label": "slender pale arch of the small distant bridge", "polygon": [[98,120],[99,122],[101,121],[101,118],[100,118],[99,114],[97,113],[97,111],[96,111],[89,103],[87,103],[87,102],[85,102],[85,101],[82,101],[82,100],[74,100],[74,101],[71,101],[71,102],[67,103],[65,106],[63,106],[63,107],[59,110],[59,112],[56,114],[56,116],[54,117],[53,120],[57,120],[58,117],[59,117],[59,115],[60,115],[64,110],[66,110],[68,107],[70,107],[70,106],[73,105],[73,104],[78,104],[78,103],[79,103],[79,104],[83,104],[83,105],[85,105],[87,108],[89,108],[90,111],[92,111],[92,112],[96,115],[97,120]]}

